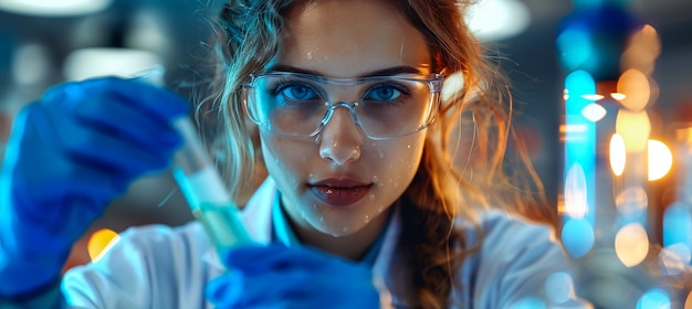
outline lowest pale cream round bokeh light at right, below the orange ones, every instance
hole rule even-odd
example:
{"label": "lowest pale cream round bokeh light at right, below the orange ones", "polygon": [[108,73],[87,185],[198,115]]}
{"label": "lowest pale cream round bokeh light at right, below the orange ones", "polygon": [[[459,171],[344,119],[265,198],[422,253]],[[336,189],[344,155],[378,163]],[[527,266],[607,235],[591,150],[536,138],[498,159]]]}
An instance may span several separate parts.
{"label": "lowest pale cream round bokeh light at right, below the orange ones", "polygon": [[639,223],[622,226],[615,236],[615,252],[627,267],[633,267],[644,260],[649,253],[649,236]]}

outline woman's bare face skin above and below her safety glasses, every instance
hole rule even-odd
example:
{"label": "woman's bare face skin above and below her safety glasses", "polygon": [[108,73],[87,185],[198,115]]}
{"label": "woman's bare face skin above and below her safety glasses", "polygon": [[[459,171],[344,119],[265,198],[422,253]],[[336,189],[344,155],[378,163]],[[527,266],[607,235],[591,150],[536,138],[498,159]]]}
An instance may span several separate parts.
{"label": "woman's bare face skin above and below her safety glasses", "polygon": [[[271,66],[283,71],[335,78],[395,67],[431,73],[423,35],[385,1],[302,1],[286,13],[281,44]],[[426,130],[370,139],[345,107],[313,138],[261,131],[264,161],[291,221],[333,236],[385,222],[418,169],[424,139]]]}

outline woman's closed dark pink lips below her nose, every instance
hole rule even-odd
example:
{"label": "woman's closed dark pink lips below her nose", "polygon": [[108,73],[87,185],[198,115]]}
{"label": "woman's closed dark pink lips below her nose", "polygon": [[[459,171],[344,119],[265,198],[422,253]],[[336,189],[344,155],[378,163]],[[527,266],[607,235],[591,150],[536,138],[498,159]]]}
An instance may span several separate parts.
{"label": "woman's closed dark pink lips below her nose", "polygon": [[350,178],[328,178],[310,183],[310,191],[317,200],[335,206],[348,206],[363,200],[371,183]]}

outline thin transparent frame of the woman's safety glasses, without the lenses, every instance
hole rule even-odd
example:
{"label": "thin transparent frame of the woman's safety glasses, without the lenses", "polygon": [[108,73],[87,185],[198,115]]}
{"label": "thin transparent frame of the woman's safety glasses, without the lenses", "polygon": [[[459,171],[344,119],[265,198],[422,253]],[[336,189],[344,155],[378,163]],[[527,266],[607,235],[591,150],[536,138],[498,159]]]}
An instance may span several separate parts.
{"label": "thin transparent frame of the woman's safety glasses, without the lenses", "polygon": [[250,89],[255,88],[256,81],[259,78],[271,77],[271,76],[275,76],[275,77],[292,76],[292,77],[308,79],[308,81],[316,82],[316,83],[323,83],[323,84],[329,84],[329,85],[343,85],[343,86],[358,85],[358,84],[367,83],[368,81],[379,81],[379,79],[382,79],[382,78],[392,78],[392,79],[408,81],[408,82],[423,82],[423,83],[428,84],[428,87],[430,88],[430,103],[429,103],[430,106],[428,107],[428,119],[426,119],[423,125],[418,127],[412,132],[407,132],[407,134],[397,135],[397,136],[387,136],[387,137],[371,136],[363,128],[363,126],[360,125],[360,119],[358,119],[358,116],[356,115],[356,110],[355,110],[355,108],[358,107],[358,105],[359,105],[358,102],[352,102],[352,103],[348,103],[348,102],[335,102],[335,103],[332,103],[328,99],[325,99],[324,104],[327,107],[327,110],[326,110],[325,115],[322,117],[322,120],[319,121],[317,127],[312,132],[310,132],[307,135],[291,135],[291,134],[285,134],[285,132],[273,130],[271,128],[271,126],[268,127],[262,121],[256,119],[256,117],[253,115],[253,113],[251,111],[251,108],[249,106],[249,100],[250,99],[249,98],[244,99],[244,108],[245,108],[245,111],[247,111],[248,117],[250,118],[250,120],[252,120],[254,124],[256,124],[261,129],[268,130],[268,131],[270,131],[272,134],[275,134],[275,135],[285,136],[285,137],[292,137],[292,138],[313,138],[313,137],[317,136],[322,131],[322,129],[332,119],[332,115],[334,115],[335,108],[339,107],[339,106],[345,107],[346,109],[349,110],[349,113],[350,113],[350,115],[352,115],[356,126],[358,127],[358,129],[365,136],[367,136],[370,139],[378,139],[378,140],[392,139],[392,138],[405,137],[405,136],[409,136],[409,135],[419,132],[419,131],[428,128],[434,121],[434,119],[437,117],[437,114],[438,114],[438,109],[440,107],[440,93],[442,90],[442,84],[444,82],[444,75],[443,74],[428,74],[428,75],[422,75],[422,74],[398,74],[398,75],[376,75],[376,76],[352,77],[352,78],[332,78],[332,77],[326,77],[326,76],[321,76],[321,75],[313,75],[313,74],[305,74],[305,73],[295,73],[295,72],[280,72],[279,71],[279,72],[268,72],[268,73],[262,73],[262,74],[251,74],[250,75],[250,82],[248,82],[247,84],[243,85],[244,90],[245,90],[245,95],[250,96]]}

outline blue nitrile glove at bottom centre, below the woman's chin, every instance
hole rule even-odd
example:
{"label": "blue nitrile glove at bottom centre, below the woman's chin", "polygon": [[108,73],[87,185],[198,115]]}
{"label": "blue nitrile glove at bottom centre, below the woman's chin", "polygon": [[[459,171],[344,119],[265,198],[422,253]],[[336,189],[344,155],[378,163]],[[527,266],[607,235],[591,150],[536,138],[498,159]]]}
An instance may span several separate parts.
{"label": "blue nitrile glove at bottom centre, below the woman's chin", "polygon": [[241,246],[207,286],[217,308],[379,308],[373,271],[306,247]]}

